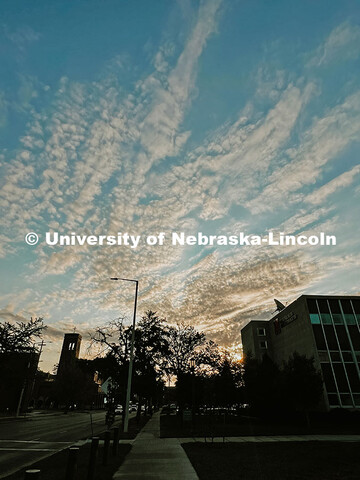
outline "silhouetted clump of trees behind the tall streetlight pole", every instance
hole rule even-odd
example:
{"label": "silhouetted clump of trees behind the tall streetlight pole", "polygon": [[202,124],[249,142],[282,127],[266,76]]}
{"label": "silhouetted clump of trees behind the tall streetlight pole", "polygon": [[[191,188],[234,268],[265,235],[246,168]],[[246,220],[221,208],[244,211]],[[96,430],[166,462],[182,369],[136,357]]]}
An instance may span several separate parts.
{"label": "silhouetted clump of trees behind the tall streetlight pole", "polygon": [[[97,370],[105,379],[111,377],[119,403],[125,399],[132,327],[123,318],[98,328],[92,341],[106,352],[97,359]],[[95,367],[95,362],[94,362]],[[135,330],[133,392],[142,401],[157,403],[166,377],[176,379],[179,405],[193,401],[192,387],[196,377],[197,400],[210,404],[230,405],[239,400],[241,366],[231,361],[203,332],[178,323],[168,325],[156,312],[148,310]],[[225,398],[226,397],[226,398]],[[204,397],[205,398],[205,397]]]}

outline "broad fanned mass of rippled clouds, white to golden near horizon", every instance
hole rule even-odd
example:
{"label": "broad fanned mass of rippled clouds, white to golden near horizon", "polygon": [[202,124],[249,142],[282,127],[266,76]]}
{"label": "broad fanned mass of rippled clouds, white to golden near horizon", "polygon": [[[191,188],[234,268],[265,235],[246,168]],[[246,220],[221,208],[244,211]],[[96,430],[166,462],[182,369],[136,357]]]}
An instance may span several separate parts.
{"label": "broad fanned mass of rippled clouds, white to golden near horizon", "polygon": [[[188,141],[191,132],[183,125],[201,88],[199,61],[217,30],[219,10],[218,1],[202,2],[177,57],[179,45],[167,40],[153,56],[154,70],[135,85],[121,83],[125,60],[117,56],[97,81],[60,79],[41,111],[29,109],[18,148],[4,152],[0,207],[6,235],[0,237],[0,255],[31,258],[22,281],[31,286],[32,298],[22,298],[21,308],[48,314],[48,335],[58,346],[74,325],[86,333],[114,312],[131,319],[133,285],[110,282],[114,275],[140,280],[140,314],[157,310],[169,322],[183,320],[220,343],[238,345],[241,327],[266,317],[274,297],[293,300],[319,285],[333,265],[340,271],[347,264],[339,250],[331,264],[319,250],[297,247],[167,243],[133,251],[41,243],[25,250],[24,232],[30,230],[43,240],[49,229],[142,236],[164,231],[169,238],[172,231],[341,228],[342,207],[328,200],[359,173],[359,167],[343,172],[340,160],[359,135],[360,92],[348,91],[331,108],[316,109],[328,102],[309,73],[296,77],[279,68],[272,77],[262,65],[254,98],[204,132],[205,139]],[[327,53],[322,64],[329,59]],[[23,99],[31,103],[27,87]],[[43,89],[36,91],[42,104]],[[336,178],[322,185],[335,171]],[[16,296],[2,300],[15,302]],[[20,315],[17,308],[4,315]]]}

